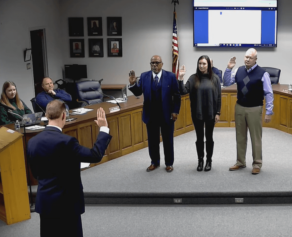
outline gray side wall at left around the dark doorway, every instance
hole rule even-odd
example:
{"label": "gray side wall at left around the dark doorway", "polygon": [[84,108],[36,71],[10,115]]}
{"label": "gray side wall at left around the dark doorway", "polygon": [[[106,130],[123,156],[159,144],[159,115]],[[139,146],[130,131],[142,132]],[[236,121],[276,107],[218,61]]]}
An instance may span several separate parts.
{"label": "gray side wall at left around the dark doorway", "polygon": [[[16,84],[20,98],[32,109],[32,69],[27,70],[23,51],[30,48],[30,30],[46,29],[48,72],[62,78],[60,52],[60,6],[56,0],[0,0],[0,87],[5,81]],[[33,55],[32,55],[33,57]]]}

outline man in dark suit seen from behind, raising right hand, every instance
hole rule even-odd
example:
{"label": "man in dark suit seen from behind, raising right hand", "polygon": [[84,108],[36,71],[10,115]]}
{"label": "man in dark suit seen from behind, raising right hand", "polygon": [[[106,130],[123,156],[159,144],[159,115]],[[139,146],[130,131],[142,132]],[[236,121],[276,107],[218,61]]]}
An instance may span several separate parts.
{"label": "man in dark suit seen from behind, raising right hand", "polygon": [[62,133],[66,120],[64,102],[53,100],[46,107],[49,120],[45,130],[28,141],[28,160],[39,181],[35,211],[40,215],[44,236],[83,236],[81,214],[85,212],[80,163],[98,163],[112,138],[105,111],[97,110],[95,123],[100,127],[91,149],[75,137]]}

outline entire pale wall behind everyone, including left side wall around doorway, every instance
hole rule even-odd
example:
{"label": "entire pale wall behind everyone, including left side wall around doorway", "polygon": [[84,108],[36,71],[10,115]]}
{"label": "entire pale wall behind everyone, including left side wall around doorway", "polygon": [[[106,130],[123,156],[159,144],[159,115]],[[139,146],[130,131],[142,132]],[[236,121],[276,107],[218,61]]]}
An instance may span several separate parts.
{"label": "entire pale wall behind everyone, including left side wall around doorway", "polygon": [[[180,63],[185,64],[185,78],[193,74],[197,59],[209,55],[214,66],[223,70],[233,55],[237,66],[244,64],[246,48],[194,48],[192,0],[177,5]],[[292,1],[281,0],[278,10],[278,47],[259,48],[258,64],[282,70],[280,83],[292,82]],[[123,57],[107,57],[107,17],[122,17]],[[84,18],[85,58],[70,58],[68,17]],[[88,57],[87,17],[102,17],[104,57]],[[173,5],[171,0],[0,0],[0,79],[15,81],[22,99],[30,105],[33,97],[32,70],[26,70],[23,50],[29,47],[29,28],[46,27],[49,76],[62,78],[64,64],[87,64],[88,79],[103,78],[104,84],[128,83],[128,72],[150,70],[150,58],[162,57],[163,68],[171,71]],[[252,27],[248,19],[246,30]],[[223,26],[222,32],[232,33]],[[131,94],[128,91],[129,94]]]}

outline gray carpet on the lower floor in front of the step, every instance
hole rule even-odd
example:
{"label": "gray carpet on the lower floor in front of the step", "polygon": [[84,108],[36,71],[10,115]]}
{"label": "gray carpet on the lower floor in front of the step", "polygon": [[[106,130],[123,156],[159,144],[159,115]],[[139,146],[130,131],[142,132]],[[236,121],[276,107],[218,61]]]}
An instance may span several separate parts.
{"label": "gray carpet on the lower floor in front of the step", "polygon": [[[291,219],[287,204],[89,205],[82,215],[84,237],[288,237]],[[9,226],[0,220],[0,236],[39,236],[39,215]]]}

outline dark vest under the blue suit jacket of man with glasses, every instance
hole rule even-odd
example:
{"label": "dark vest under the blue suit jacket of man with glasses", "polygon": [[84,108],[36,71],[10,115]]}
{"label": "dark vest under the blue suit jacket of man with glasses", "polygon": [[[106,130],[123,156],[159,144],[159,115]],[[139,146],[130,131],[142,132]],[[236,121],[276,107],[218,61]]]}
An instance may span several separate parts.
{"label": "dark vest under the blue suit jacket of man with glasses", "polygon": [[160,77],[159,83],[156,86],[153,75],[151,76],[151,110],[155,114],[162,116],[162,76]]}

